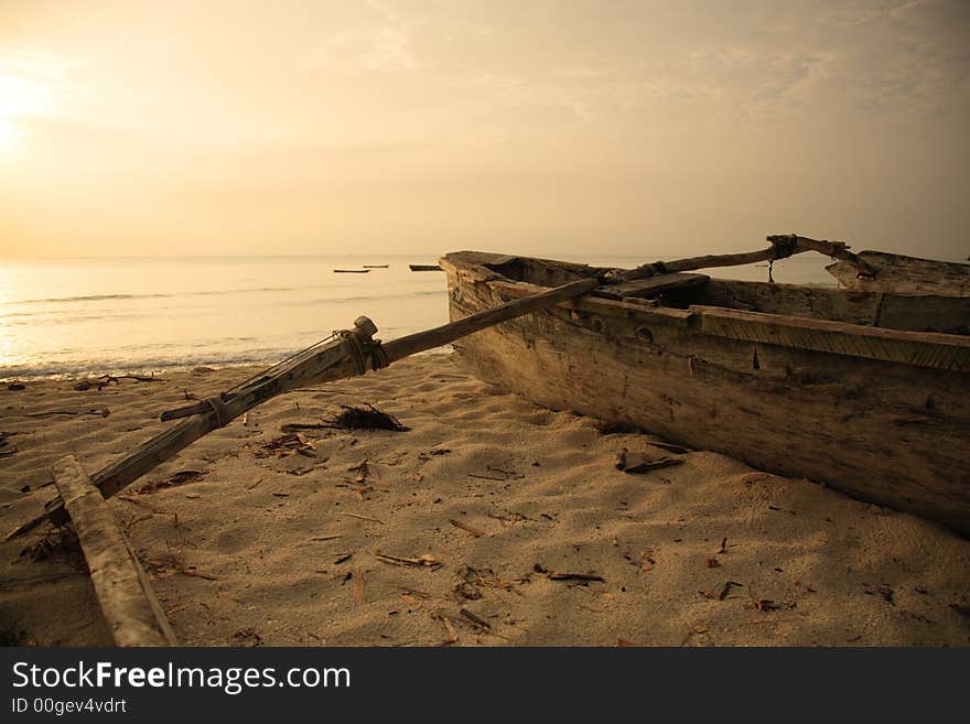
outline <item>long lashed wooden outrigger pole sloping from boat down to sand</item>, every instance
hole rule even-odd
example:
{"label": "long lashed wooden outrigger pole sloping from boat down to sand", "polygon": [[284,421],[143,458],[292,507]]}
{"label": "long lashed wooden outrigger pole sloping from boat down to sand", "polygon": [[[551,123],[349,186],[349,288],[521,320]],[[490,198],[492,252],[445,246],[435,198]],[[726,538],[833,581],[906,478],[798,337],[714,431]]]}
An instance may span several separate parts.
{"label": "long lashed wooden outrigger pole sloping from boat down to sand", "polygon": [[[279,365],[279,369],[273,368],[276,371],[272,374],[260,377],[236,392],[223,393],[198,404],[163,413],[163,420],[184,417],[190,419],[146,441],[132,453],[111,463],[98,472],[93,477],[93,482],[101,495],[109,498],[149,471],[174,457],[203,435],[224,426],[270,398],[297,387],[354,377],[371,368],[385,367],[499,322],[575,299],[590,292],[597,283],[595,279],[570,282],[535,296],[515,300],[433,329],[395,339],[384,347],[371,339],[377,332],[374,323],[367,317],[359,317],[354,323],[356,327],[354,332],[344,333],[341,339],[324,347],[311,347],[287,364]],[[47,503],[43,515],[13,529],[4,540],[32,530],[44,520],[55,525],[66,522],[67,515],[60,498]]]}

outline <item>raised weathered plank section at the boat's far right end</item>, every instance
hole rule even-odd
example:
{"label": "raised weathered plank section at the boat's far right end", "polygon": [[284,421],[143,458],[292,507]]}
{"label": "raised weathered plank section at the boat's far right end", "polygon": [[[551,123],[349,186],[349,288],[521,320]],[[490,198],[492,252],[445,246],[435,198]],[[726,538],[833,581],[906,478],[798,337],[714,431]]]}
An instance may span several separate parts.
{"label": "raised weathered plank section at the boat's far right end", "polygon": [[896,294],[970,296],[970,264],[920,259],[883,251],[860,251],[859,259],[875,270],[874,277],[860,277],[845,261],[826,267],[848,289]]}

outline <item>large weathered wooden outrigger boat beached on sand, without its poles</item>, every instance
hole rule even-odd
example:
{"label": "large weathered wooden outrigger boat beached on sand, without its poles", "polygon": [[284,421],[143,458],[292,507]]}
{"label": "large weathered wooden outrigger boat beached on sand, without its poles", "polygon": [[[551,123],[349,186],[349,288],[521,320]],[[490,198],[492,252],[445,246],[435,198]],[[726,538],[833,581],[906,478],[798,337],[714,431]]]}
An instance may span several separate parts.
{"label": "large weathered wooden outrigger boat beached on sand, without its poles", "polygon": [[[855,261],[832,271],[856,289],[655,273],[503,322],[455,349],[481,379],[547,408],[633,424],[968,534],[970,264],[947,264],[944,282],[929,260],[845,256]],[[452,320],[616,274],[475,251],[441,264]],[[872,273],[888,266],[885,278]]]}

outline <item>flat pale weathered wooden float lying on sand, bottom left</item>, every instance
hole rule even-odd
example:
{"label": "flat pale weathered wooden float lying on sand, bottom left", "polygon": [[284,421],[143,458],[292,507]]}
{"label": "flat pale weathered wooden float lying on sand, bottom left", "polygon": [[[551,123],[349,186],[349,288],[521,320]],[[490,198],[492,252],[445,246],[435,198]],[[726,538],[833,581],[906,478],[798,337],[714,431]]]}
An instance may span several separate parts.
{"label": "flat pale weathered wooden float lying on sand, bottom left", "polygon": [[61,493],[90,570],[105,620],[118,646],[177,646],[165,612],[152,591],[115,515],[72,456],[54,465]]}

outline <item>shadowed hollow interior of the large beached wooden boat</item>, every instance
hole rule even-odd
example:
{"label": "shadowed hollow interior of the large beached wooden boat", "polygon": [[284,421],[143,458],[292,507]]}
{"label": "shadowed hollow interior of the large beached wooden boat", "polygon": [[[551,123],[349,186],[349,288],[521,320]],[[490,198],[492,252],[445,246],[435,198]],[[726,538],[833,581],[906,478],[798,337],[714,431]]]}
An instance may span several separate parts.
{"label": "shadowed hollow interior of the large beached wooden boat", "polygon": [[[451,256],[451,255],[450,255]],[[464,252],[456,261],[473,262],[513,282],[558,287],[606,268],[570,262]],[[745,312],[830,320],[886,329],[970,334],[970,298],[861,292],[837,287],[712,279],[702,273],[676,273],[605,285],[594,296],[619,303],[689,309],[714,306]]]}

